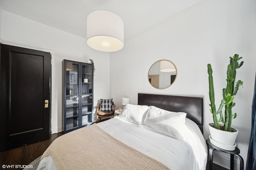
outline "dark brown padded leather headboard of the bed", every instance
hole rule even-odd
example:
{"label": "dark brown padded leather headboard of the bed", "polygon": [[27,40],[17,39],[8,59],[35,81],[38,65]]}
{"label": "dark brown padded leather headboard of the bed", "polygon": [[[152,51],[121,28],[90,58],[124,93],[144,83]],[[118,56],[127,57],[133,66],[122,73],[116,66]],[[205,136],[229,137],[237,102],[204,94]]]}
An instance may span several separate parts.
{"label": "dark brown padded leather headboard of the bed", "polygon": [[186,117],[194,121],[203,133],[203,98],[138,93],[138,105],[156,106],[168,111],[185,112],[187,113]]}

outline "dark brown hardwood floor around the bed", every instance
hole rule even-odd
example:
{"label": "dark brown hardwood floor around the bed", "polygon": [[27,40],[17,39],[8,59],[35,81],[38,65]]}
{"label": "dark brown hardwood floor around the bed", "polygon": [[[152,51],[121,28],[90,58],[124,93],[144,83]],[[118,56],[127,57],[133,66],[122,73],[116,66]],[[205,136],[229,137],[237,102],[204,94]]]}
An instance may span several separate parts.
{"label": "dark brown hardwood floor around the bed", "polygon": [[[50,135],[50,139],[41,141],[38,143],[32,143],[24,147],[19,147],[11,150],[6,150],[0,152],[0,169],[2,165],[28,165],[33,160],[41,156],[48,146],[56,139],[57,137],[63,135],[62,132]],[[8,168],[10,169],[10,168]],[[227,170],[222,166],[214,164],[214,170]],[[208,166],[206,168],[208,170]]]}

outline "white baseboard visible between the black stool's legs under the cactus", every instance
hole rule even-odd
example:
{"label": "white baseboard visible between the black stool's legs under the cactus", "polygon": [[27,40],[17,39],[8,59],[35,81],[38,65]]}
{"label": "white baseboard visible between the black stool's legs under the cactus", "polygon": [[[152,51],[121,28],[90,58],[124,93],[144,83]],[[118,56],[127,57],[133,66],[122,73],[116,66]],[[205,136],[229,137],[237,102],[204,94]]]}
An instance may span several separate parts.
{"label": "white baseboard visible between the black stool's legs under the cactus", "polygon": [[[230,169],[230,154],[214,150],[213,163],[222,166],[226,169]],[[240,168],[240,161],[236,156],[234,156],[234,169],[238,170]]]}

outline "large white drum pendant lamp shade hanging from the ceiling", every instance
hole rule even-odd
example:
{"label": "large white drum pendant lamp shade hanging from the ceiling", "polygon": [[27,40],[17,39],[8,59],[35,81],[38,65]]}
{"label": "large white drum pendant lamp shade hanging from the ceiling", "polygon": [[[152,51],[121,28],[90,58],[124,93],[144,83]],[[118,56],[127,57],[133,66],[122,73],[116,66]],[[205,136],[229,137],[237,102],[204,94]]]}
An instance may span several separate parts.
{"label": "large white drum pendant lamp shade hanging from the ceiling", "polygon": [[105,52],[124,47],[124,22],[113,12],[96,10],[87,16],[87,45]]}

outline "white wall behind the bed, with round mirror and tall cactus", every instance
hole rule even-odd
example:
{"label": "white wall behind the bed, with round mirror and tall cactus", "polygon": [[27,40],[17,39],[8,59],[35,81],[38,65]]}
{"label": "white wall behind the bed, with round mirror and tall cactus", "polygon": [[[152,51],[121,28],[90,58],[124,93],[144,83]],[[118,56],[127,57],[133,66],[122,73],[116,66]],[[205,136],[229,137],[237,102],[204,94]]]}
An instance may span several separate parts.
{"label": "white wall behind the bed, with round mirror and tall cactus", "polygon": [[[236,140],[246,162],[251,128],[251,106],[256,72],[256,2],[254,0],[203,0],[154,25],[125,42],[110,54],[110,96],[121,107],[121,97],[137,104],[138,92],[199,96],[204,98],[204,137],[208,139],[209,111],[207,64],[214,76],[216,105],[226,86],[226,66],[230,56],[239,54],[244,65],[237,80],[244,81],[234,102],[238,117],[232,126],[239,130]],[[148,82],[150,66],[160,59],[171,61],[177,77],[169,88],[157,90]],[[218,154],[218,153],[217,153]],[[214,159],[229,167],[227,155]]]}

